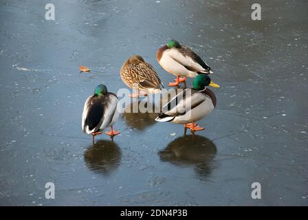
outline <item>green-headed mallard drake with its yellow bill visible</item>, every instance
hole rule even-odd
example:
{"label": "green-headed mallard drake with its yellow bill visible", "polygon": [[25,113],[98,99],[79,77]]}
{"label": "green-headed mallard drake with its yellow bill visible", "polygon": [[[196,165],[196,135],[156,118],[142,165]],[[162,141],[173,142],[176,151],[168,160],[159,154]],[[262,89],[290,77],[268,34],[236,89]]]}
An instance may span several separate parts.
{"label": "green-headed mallard drake with its yellow bill visible", "polygon": [[158,122],[173,122],[184,124],[190,131],[201,131],[204,128],[195,122],[208,116],[216,107],[216,96],[206,86],[219,88],[206,74],[198,75],[193,82],[193,88],[184,89],[170,102],[162,107],[161,113],[155,118]]}

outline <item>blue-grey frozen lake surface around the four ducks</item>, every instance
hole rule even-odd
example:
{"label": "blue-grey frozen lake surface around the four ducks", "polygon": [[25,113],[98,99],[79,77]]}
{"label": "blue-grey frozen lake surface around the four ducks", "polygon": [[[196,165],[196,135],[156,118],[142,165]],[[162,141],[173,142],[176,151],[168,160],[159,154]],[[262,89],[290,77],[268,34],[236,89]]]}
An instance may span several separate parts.
{"label": "blue-grey frozen lake surface around the four ducks", "polygon": [[[258,1],[261,21],[254,1],[53,1],[55,21],[45,3],[0,3],[0,205],[308,205],[308,1]],[[221,86],[206,130],[124,114],[121,135],[92,146],[85,99],[126,88],[131,54],[173,80],[155,58],[170,38]]]}

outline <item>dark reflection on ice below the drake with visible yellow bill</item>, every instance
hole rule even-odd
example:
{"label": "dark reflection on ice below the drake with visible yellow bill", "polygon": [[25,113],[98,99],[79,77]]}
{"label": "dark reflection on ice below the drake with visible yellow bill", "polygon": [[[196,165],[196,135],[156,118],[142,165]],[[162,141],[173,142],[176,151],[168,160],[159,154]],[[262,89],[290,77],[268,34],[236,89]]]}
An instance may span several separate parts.
{"label": "dark reflection on ice below the drake with visible yellow bill", "polygon": [[164,162],[178,166],[195,165],[198,175],[206,177],[213,168],[212,159],[217,153],[215,144],[207,137],[200,135],[184,135],[170,142],[159,151],[159,157]]}

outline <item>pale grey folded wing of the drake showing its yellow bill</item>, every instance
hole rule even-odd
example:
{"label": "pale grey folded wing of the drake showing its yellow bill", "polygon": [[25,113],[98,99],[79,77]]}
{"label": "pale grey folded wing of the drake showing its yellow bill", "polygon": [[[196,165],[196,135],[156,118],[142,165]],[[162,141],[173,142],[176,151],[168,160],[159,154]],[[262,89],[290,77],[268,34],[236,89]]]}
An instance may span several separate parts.
{"label": "pale grey folded wing of the drake showing its yellow bill", "polygon": [[185,89],[162,107],[162,113],[171,116],[184,115],[204,100],[206,100],[206,96],[201,92],[195,91],[195,89]]}

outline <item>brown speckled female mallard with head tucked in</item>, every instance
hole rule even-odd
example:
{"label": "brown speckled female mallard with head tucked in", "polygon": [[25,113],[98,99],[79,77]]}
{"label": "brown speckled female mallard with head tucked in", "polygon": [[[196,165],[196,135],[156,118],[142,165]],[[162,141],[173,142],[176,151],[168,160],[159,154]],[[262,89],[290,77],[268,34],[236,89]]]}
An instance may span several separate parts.
{"label": "brown speckled female mallard with head tucked in", "polygon": [[[131,56],[121,67],[120,71],[123,82],[130,88],[137,87],[137,94],[131,94],[131,97],[139,95],[146,96],[146,92],[159,92],[163,87],[157,72],[151,64],[146,63],[141,56]],[[142,93],[139,92],[139,89]]]}

